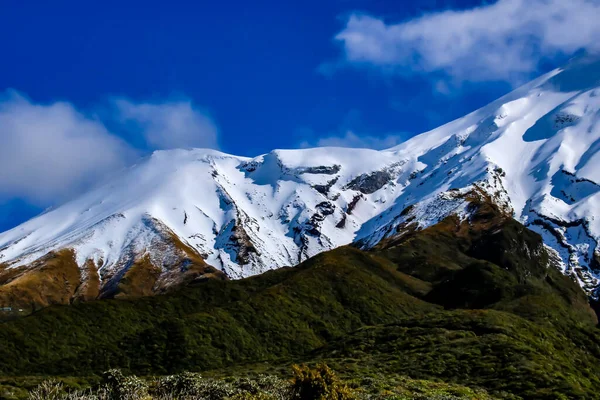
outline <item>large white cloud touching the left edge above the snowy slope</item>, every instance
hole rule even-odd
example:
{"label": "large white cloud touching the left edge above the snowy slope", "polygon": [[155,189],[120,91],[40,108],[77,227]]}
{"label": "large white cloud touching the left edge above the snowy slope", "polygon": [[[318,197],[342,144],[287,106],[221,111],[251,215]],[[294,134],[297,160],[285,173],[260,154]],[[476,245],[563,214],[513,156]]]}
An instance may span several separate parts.
{"label": "large white cloud touching the left edge above the snowy slope", "polygon": [[46,206],[126,165],[133,151],[71,104],[0,96],[0,195]]}

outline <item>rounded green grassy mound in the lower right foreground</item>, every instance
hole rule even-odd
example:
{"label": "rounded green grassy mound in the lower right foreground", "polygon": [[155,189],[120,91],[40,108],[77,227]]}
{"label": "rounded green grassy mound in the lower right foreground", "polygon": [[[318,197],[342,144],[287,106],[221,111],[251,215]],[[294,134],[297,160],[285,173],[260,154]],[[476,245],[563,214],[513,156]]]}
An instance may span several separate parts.
{"label": "rounded green grassy mound in the lower right foreground", "polygon": [[[524,398],[598,398],[600,334],[458,310],[366,327],[311,355],[347,376],[440,379]],[[348,371],[349,370],[349,371]]]}

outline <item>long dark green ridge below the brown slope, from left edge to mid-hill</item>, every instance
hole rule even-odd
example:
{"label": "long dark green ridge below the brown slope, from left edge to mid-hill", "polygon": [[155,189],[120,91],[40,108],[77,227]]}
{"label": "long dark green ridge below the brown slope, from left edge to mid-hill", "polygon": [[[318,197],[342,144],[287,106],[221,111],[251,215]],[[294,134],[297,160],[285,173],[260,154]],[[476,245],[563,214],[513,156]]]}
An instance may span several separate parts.
{"label": "long dark green ridge below the brown slope, from left edge to mid-hill", "polygon": [[51,307],[2,325],[0,370],[166,373],[298,355],[361,326],[439,308],[406,294],[405,285],[371,255],[343,248],[242,281]]}

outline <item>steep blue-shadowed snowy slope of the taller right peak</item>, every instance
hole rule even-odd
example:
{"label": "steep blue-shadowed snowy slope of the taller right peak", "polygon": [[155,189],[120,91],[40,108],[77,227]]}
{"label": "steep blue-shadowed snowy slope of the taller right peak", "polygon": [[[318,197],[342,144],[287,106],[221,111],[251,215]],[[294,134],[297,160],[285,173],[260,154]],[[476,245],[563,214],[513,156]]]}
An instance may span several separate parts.
{"label": "steep blue-shadowed snowy slope of the taller right peak", "polygon": [[599,95],[600,62],[574,60],[395,147],[419,167],[394,206],[361,228],[359,241],[369,247],[407,223],[427,226],[439,214],[460,213],[466,193],[485,192],[542,234],[563,270],[593,291],[600,268]]}

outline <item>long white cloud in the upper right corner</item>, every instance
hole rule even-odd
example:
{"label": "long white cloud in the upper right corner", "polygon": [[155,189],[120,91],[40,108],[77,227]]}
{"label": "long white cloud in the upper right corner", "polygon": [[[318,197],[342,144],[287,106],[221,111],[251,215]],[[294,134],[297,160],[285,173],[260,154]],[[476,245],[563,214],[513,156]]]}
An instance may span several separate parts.
{"label": "long white cloud in the upper right corner", "polygon": [[353,14],[335,39],[353,64],[515,81],[543,58],[600,50],[599,15],[598,0],[499,0],[395,24]]}

